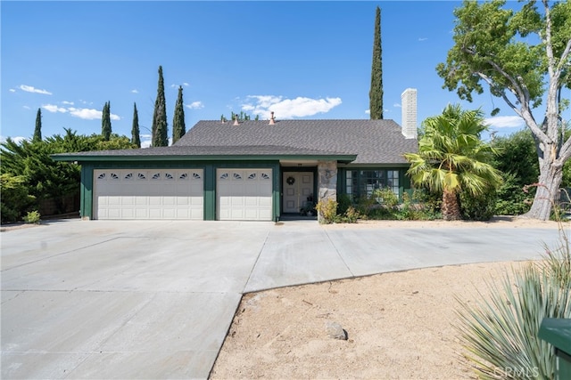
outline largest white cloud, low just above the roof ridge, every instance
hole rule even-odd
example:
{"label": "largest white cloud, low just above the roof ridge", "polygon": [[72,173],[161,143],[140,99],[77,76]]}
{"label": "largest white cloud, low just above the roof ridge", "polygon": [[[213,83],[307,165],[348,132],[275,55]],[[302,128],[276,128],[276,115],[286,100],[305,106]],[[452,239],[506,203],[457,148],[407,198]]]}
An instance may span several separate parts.
{"label": "largest white cloud, low just above the roof ridge", "polygon": [[252,116],[260,115],[269,118],[274,111],[278,118],[309,117],[319,113],[326,113],[342,103],[341,98],[311,99],[298,96],[295,99],[283,99],[274,95],[249,95],[242,109],[250,112]]}

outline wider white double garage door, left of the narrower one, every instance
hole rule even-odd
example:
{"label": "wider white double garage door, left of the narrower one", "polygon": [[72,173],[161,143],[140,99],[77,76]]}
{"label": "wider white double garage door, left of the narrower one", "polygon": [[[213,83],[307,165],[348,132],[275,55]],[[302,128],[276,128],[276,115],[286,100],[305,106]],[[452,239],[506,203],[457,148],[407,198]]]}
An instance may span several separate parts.
{"label": "wider white double garage door, left of the narrower one", "polygon": [[202,169],[95,170],[95,219],[203,220]]}

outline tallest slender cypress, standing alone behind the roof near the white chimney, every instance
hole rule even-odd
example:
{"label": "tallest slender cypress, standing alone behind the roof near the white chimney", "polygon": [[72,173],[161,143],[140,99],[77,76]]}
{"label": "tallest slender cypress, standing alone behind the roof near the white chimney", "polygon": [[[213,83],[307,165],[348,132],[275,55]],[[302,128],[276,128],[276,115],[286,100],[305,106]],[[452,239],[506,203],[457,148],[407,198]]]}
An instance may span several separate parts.
{"label": "tallest slender cypress, standing alone behind the roof near the white chimney", "polygon": [[381,46],[381,9],[377,6],[371,89],[368,92],[368,109],[371,120],[383,118],[383,48]]}

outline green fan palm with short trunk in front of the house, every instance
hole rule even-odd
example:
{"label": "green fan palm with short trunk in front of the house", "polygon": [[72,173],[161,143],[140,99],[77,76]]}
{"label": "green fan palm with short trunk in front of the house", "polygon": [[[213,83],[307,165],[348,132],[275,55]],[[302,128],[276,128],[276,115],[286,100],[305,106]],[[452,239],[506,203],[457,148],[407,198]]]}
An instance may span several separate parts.
{"label": "green fan palm with short trunk in front of the house", "polygon": [[404,155],[415,185],[442,191],[444,220],[460,219],[460,191],[477,197],[501,184],[500,172],[486,163],[494,150],[480,138],[487,130],[483,115],[480,109],[448,105],[442,115],[424,121],[418,153]]}

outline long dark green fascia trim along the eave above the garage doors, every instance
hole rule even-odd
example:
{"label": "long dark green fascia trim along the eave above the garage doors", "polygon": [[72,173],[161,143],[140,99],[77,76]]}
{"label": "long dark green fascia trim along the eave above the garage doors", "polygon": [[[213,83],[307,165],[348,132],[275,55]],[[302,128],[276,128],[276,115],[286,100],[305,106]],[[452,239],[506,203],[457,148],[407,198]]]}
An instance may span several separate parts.
{"label": "long dark green fascia trim along the eave above the garage doors", "polygon": [[203,155],[203,156],[175,156],[175,155],[156,155],[156,156],[120,156],[120,155],[51,155],[54,161],[77,161],[79,164],[83,162],[166,162],[166,161],[275,161],[280,159],[286,160],[327,160],[327,161],[342,161],[352,162],[357,158],[357,155]]}

